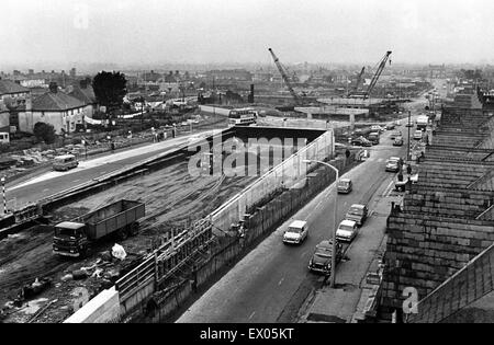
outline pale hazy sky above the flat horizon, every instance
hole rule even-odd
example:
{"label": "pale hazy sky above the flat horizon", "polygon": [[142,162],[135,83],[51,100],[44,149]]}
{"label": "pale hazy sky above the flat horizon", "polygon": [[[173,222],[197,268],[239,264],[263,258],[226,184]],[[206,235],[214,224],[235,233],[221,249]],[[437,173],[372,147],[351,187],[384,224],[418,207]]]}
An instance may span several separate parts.
{"label": "pale hazy sky above the flat horizon", "polygon": [[0,0],[0,68],[41,61],[493,62],[492,0]]}

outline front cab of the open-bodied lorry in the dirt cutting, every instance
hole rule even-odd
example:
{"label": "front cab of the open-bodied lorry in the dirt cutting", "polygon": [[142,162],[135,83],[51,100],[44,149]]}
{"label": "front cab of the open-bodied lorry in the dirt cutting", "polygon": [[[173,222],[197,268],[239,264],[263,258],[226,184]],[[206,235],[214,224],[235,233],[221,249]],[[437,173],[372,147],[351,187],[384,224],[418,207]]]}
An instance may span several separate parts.
{"label": "front cab of the open-bodied lorry in the dirt cutting", "polygon": [[64,221],[55,226],[53,237],[53,253],[79,257],[88,250],[89,240],[86,234],[86,225],[80,222]]}

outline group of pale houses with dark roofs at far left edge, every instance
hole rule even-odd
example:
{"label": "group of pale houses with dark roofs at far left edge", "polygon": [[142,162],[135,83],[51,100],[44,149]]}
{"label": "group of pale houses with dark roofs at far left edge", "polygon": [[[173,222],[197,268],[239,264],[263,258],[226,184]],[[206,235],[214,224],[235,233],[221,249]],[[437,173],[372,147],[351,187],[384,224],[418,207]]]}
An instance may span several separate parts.
{"label": "group of pale houses with dark roofs at far left edge", "polygon": [[57,134],[70,134],[85,117],[92,117],[97,100],[92,87],[80,81],[70,92],[63,92],[56,82],[41,93],[33,94],[29,88],[0,80],[0,131],[33,133],[36,123],[54,126]]}

